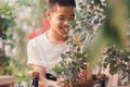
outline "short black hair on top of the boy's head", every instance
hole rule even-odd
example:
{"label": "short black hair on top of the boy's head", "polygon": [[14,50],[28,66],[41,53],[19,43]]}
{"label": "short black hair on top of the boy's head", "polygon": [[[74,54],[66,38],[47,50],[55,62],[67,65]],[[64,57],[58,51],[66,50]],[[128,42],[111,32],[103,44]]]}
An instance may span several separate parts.
{"label": "short black hair on top of the boy's head", "polygon": [[76,8],[75,0],[48,0],[49,9],[53,9],[53,7],[55,4],[58,4],[61,7],[74,7],[74,8]]}

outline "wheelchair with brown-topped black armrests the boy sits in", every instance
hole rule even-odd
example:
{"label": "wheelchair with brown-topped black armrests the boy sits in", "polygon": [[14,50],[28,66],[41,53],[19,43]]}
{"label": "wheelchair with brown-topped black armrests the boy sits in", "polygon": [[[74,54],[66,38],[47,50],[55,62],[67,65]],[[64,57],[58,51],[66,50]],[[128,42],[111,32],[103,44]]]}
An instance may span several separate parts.
{"label": "wheelchair with brown-topped black armrests the boy sits in", "polygon": [[[28,72],[27,76],[31,78],[30,87],[39,87],[38,86],[39,85],[38,84],[39,83],[39,73],[38,72],[32,72],[32,71]],[[49,73],[46,74],[46,77],[51,80],[56,80],[56,77]],[[92,74],[92,78],[93,78],[92,87],[106,87],[107,77],[105,74],[100,74],[100,75]]]}

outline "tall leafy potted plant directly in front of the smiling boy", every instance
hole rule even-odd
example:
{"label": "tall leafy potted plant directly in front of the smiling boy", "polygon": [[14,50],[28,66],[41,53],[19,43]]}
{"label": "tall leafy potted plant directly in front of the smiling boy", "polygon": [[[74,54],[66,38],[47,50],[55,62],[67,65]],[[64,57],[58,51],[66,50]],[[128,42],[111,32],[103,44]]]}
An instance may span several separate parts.
{"label": "tall leafy potted plant directly in front of the smiling boy", "polygon": [[[80,69],[87,70],[88,53],[82,49],[86,48],[86,45],[82,47],[83,42],[91,42],[98,30],[96,27],[104,20],[105,5],[101,2],[86,0],[83,3],[79,2],[78,5],[78,10],[75,10],[76,21],[69,22],[72,26],[67,35],[69,49],[61,54],[63,60],[53,69],[56,76],[62,78],[61,83],[65,83],[69,87],[77,86],[77,80],[80,79],[78,75]],[[96,11],[100,12],[96,13]],[[87,84],[89,87],[88,80],[82,82],[82,84]],[[80,86],[78,85],[78,87]]]}

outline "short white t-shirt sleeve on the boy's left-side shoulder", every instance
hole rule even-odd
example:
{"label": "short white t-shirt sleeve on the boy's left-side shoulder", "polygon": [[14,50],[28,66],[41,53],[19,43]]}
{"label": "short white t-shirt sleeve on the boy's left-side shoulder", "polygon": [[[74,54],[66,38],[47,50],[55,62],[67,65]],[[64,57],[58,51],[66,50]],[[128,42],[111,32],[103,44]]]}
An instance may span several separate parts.
{"label": "short white t-shirt sleeve on the boy's left-side shoulder", "polygon": [[40,52],[38,46],[34,40],[28,41],[27,44],[27,65],[43,65],[42,58],[40,58]]}

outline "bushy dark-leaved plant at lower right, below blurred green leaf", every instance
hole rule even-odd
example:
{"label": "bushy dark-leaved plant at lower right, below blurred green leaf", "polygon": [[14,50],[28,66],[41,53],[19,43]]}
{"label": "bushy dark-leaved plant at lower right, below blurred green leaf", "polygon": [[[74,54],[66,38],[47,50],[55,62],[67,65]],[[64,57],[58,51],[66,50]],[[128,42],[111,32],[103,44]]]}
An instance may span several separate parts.
{"label": "bushy dark-leaved plant at lower right, below blurred green leaf", "polygon": [[[126,23],[127,29],[129,30],[129,20]],[[129,33],[129,32],[128,32]],[[127,34],[127,33],[126,33]],[[129,35],[128,35],[129,38]],[[129,39],[128,39],[129,45]],[[118,85],[130,84],[130,50],[129,46],[127,50],[117,48],[115,45],[109,45],[104,51],[102,66],[109,69],[112,75],[118,74]],[[123,82],[125,80],[125,82]]]}

